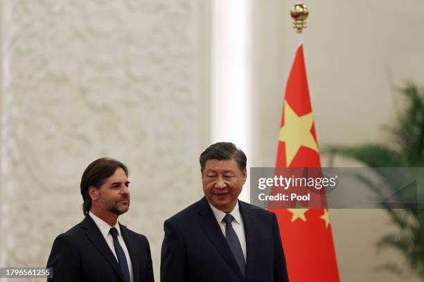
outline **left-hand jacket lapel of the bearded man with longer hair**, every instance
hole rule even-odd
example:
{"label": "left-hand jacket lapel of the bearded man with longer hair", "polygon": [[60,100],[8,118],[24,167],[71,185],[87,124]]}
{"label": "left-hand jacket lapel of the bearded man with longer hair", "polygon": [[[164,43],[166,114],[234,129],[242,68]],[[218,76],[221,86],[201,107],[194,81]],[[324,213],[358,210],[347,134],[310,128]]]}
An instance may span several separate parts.
{"label": "left-hand jacket lapel of the bearded man with longer hair", "polygon": [[116,274],[118,274],[121,280],[124,281],[121,267],[119,267],[118,261],[116,261],[112,250],[110,250],[109,245],[106,243],[105,237],[103,237],[100,229],[98,229],[96,223],[94,223],[94,220],[90,216],[85,216],[85,219],[80,223],[80,227],[85,229],[85,235],[87,235],[89,241],[91,241],[91,243],[96,246],[99,252],[105,257],[106,261],[115,270]]}

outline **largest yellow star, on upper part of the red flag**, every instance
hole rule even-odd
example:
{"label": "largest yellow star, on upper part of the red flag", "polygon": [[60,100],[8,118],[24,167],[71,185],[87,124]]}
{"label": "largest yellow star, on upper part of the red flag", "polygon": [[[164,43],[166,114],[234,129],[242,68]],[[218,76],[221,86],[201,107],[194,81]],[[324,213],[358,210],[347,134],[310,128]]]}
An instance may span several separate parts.
{"label": "largest yellow star, on upper part of the red flag", "polygon": [[312,112],[299,117],[284,101],[284,125],[281,127],[279,140],[285,142],[285,163],[290,166],[301,146],[318,151],[317,142],[310,133],[314,119]]}

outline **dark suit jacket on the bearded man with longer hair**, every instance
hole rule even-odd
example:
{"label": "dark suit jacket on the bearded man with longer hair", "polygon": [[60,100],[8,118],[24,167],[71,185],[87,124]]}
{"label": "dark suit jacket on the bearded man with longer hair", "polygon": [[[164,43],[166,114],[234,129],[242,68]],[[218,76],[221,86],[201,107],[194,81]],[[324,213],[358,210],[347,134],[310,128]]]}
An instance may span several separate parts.
{"label": "dark suit jacket on the bearded man with longer hair", "polygon": [[[147,238],[120,226],[130,253],[134,282],[153,282]],[[51,282],[124,281],[116,257],[90,216],[55,239],[47,267],[53,267],[53,278],[47,280]]]}

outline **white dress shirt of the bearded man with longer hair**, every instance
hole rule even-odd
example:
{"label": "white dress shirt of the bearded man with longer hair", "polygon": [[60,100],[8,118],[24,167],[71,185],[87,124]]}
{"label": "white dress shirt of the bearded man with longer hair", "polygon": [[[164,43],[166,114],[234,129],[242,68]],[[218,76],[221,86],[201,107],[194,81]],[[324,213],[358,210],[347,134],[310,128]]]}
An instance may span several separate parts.
{"label": "white dress shirt of the bearded man with longer hair", "polygon": [[125,241],[123,240],[121,236],[121,227],[119,226],[118,221],[116,221],[115,226],[110,226],[103,219],[99,218],[98,216],[93,214],[91,211],[89,212],[89,216],[93,218],[94,223],[96,223],[103,237],[105,237],[106,243],[107,245],[109,245],[109,248],[114,254],[116,261],[118,261],[118,256],[116,256],[116,252],[115,252],[114,238],[112,237],[112,234],[110,234],[109,232],[112,227],[116,228],[116,230],[118,231],[118,241],[119,241],[119,244],[121,244],[122,250],[124,251],[125,258],[127,259],[128,270],[130,270],[130,281],[133,282],[134,275],[132,274],[132,263],[131,263],[130,253],[128,252],[127,245],[125,244]]}

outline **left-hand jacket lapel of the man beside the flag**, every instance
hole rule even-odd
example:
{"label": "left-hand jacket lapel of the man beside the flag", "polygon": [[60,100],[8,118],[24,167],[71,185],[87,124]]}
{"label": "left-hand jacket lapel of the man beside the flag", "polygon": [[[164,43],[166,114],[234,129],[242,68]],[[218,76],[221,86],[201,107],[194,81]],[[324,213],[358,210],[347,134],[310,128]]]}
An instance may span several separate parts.
{"label": "left-hand jacket lapel of the man beside the flag", "polygon": [[199,223],[206,233],[206,236],[209,237],[213,245],[215,245],[218,252],[220,252],[220,254],[224,257],[224,260],[227,262],[231,270],[236,273],[240,281],[245,281],[206,198],[202,198],[202,200],[200,200],[200,211],[198,214],[200,216]]}

